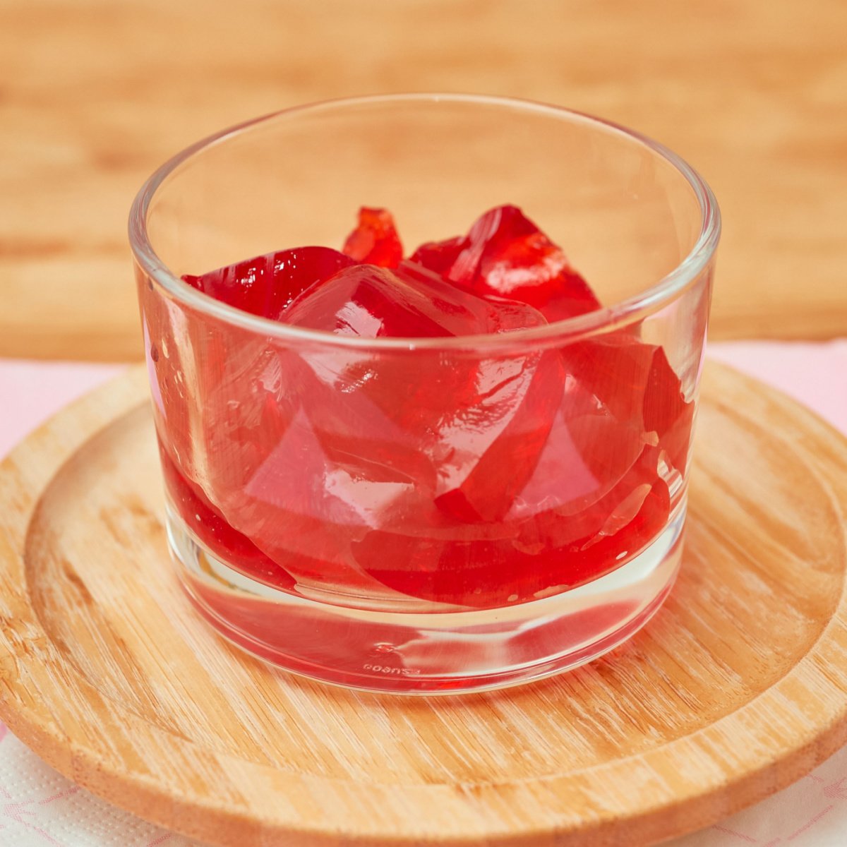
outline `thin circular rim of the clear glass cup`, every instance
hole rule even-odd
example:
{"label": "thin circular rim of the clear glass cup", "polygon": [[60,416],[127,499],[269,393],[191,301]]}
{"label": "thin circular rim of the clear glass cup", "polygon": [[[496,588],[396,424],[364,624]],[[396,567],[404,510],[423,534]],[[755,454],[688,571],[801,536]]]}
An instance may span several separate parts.
{"label": "thin circular rim of the clear glass cup", "polygon": [[[583,123],[596,129],[612,131],[625,136],[631,141],[648,147],[661,156],[667,163],[681,174],[695,193],[700,206],[700,235],[688,255],[678,263],[661,280],[649,285],[642,291],[619,302],[595,309],[592,312],[564,318],[551,324],[517,329],[512,332],[484,335],[451,335],[430,338],[360,338],[355,335],[336,335],[323,329],[307,329],[306,327],[284,324],[271,318],[263,318],[241,309],[230,306],[214,299],[212,296],[197,291],[180,277],[176,276],[153,250],[147,233],[147,213],[150,204],[160,185],[170,174],[180,169],[198,153],[209,147],[224,143],[235,136],[241,136],[248,130],[279,119],[296,119],[304,113],[318,113],[335,108],[347,108],[371,104],[390,104],[392,102],[452,102],[468,105],[488,105],[523,110],[528,113],[547,115],[551,118],[570,120],[573,123]],[[451,349],[479,350],[479,348],[512,347],[532,342],[539,344],[563,339],[575,340],[578,337],[590,335],[596,330],[607,331],[621,324],[634,321],[639,316],[655,312],[665,303],[670,302],[680,291],[684,291],[692,280],[711,261],[717,242],[721,235],[721,214],[717,199],[700,174],[675,152],[648,136],[630,130],[628,127],[612,121],[597,118],[594,115],[578,112],[573,109],[554,106],[548,103],[524,100],[517,97],[499,97],[479,94],[459,93],[409,93],[409,94],[379,94],[363,97],[340,97],[331,100],[311,102],[291,108],[280,109],[276,112],[261,115],[244,121],[241,124],[220,130],[195,142],[189,147],[176,153],[168,161],[156,169],[141,185],[130,208],[129,239],[130,248],[141,269],[153,280],[156,280],[175,300],[184,303],[197,311],[218,318],[227,324],[234,324],[243,329],[249,329],[259,335],[273,337],[279,340],[297,342],[317,342],[324,346],[340,346],[359,350],[415,350],[415,349]],[[285,249],[285,247],[280,247]]]}

